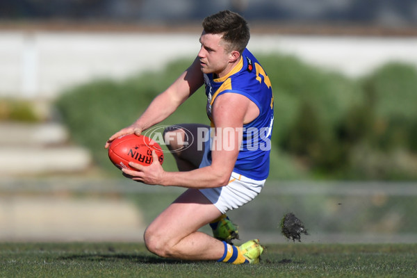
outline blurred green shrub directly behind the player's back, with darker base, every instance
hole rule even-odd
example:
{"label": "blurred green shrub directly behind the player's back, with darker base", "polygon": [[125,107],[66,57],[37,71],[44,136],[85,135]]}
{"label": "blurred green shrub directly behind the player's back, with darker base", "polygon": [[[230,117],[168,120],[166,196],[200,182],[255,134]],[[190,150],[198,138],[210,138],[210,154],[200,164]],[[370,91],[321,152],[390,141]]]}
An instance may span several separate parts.
{"label": "blurred green shrub directly behind the player's back, with darker base", "polygon": [[316,170],[345,165],[346,149],[338,142],[338,126],[363,102],[359,85],[291,56],[261,56],[259,60],[274,90],[273,140],[277,145]]}

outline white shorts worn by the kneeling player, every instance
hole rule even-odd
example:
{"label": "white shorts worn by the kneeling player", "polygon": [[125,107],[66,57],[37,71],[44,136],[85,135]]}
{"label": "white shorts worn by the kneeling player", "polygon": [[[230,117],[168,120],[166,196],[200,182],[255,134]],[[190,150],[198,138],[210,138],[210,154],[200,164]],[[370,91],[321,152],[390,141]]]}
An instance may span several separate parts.
{"label": "white shorts worn by the kneeling player", "polygon": [[[206,148],[205,152],[208,152],[207,149],[209,148]],[[203,161],[199,167],[208,166],[209,164],[210,162],[206,159],[206,154],[204,154]],[[227,186],[204,188],[200,189],[200,192],[203,193],[203,195],[206,196],[221,213],[226,213],[227,211],[252,201],[254,197],[261,193],[264,184],[265,179],[256,181],[255,179],[249,179],[241,174],[232,172]]]}

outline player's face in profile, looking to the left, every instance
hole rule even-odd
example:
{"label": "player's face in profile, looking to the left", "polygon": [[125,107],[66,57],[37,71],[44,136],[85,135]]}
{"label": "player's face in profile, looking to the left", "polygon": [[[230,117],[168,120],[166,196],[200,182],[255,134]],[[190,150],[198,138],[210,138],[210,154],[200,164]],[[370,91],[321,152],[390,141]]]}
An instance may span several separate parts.
{"label": "player's face in profile, looking to the left", "polygon": [[230,54],[224,49],[222,34],[207,34],[203,31],[199,38],[202,47],[198,53],[201,70],[205,74],[222,74],[227,73],[224,70],[229,65]]}

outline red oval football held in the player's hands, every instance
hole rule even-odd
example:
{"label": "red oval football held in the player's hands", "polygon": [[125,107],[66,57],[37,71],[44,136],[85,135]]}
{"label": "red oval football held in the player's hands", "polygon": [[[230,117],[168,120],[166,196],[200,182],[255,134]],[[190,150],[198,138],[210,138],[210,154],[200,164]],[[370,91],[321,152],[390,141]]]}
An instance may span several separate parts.
{"label": "red oval football held in the player's hands", "polygon": [[129,167],[129,162],[150,165],[153,161],[152,150],[156,152],[159,163],[163,163],[163,151],[161,146],[147,136],[129,134],[116,138],[108,147],[108,158],[119,168],[134,170]]}

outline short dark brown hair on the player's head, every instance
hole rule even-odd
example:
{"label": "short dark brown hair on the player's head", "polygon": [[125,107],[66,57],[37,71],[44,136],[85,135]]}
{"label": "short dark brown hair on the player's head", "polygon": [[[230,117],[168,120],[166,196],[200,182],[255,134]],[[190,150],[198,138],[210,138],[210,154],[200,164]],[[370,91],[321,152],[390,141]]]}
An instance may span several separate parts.
{"label": "short dark brown hair on the player's head", "polygon": [[242,54],[250,39],[246,20],[230,10],[209,15],[202,25],[208,34],[223,34],[222,39],[229,44],[228,51],[237,50]]}

